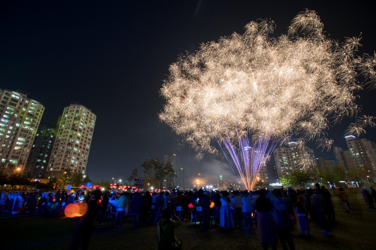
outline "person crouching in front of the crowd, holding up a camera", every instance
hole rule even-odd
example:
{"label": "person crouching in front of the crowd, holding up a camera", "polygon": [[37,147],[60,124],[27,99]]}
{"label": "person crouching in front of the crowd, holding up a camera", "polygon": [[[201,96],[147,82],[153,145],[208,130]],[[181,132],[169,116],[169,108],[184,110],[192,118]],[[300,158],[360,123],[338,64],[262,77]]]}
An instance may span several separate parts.
{"label": "person crouching in front of the crowd, holding up a camera", "polygon": [[[172,217],[172,218],[171,218]],[[182,241],[174,235],[174,228],[182,222],[175,211],[166,208],[162,212],[162,220],[158,221],[158,250],[182,249]]]}

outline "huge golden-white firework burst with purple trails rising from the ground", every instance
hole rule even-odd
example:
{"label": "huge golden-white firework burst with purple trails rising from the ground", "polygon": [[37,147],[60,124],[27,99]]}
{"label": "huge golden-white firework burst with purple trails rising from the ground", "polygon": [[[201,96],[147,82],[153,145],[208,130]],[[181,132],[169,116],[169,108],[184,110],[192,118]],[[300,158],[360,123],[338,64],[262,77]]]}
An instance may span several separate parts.
{"label": "huge golden-white firework burst with purple trails rising from the ground", "polygon": [[329,121],[356,113],[358,72],[375,83],[374,57],[355,55],[360,38],[326,38],[316,12],[297,15],[289,36],[271,38],[274,26],[252,21],[244,35],[180,56],[161,88],[167,103],[160,119],[185,136],[198,159],[223,151],[249,190],[268,155],[292,134],[303,145],[322,136]]}

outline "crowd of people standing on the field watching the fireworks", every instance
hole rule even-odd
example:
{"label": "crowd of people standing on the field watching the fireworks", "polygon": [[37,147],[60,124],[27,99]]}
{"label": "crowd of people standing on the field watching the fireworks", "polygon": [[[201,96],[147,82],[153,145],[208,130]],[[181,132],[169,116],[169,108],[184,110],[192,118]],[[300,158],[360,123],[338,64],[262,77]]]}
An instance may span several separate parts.
{"label": "crowd of people standing on the field watching the fireworks", "polygon": [[[376,191],[362,188],[362,199],[368,207],[376,202]],[[338,198],[345,212],[350,212],[350,204],[343,188]],[[9,192],[1,193],[0,209],[8,214],[16,214],[24,209],[29,215],[46,214],[60,216],[70,203],[85,202],[87,212],[76,228],[72,249],[81,245],[87,249],[95,221],[103,225],[104,218],[114,217],[115,227],[121,227],[125,220],[133,218],[136,227],[148,224],[158,225],[159,249],[166,246],[179,249],[182,241],[174,236],[173,230],[181,220],[197,219],[203,230],[210,230],[217,224],[226,230],[241,228],[258,229],[259,239],[264,249],[276,249],[279,241],[282,249],[294,249],[291,229],[299,223],[302,235],[310,235],[308,220],[322,227],[324,235],[331,235],[331,224],[335,220],[331,194],[326,188],[315,184],[315,188],[294,190],[293,188],[274,190],[233,190],[207,191],[205,188],[191,191],[177,189],[153,192],[116,192],[96,190],[57,191],[56,193]],[[213,222],[214,221],[214,222]]]}

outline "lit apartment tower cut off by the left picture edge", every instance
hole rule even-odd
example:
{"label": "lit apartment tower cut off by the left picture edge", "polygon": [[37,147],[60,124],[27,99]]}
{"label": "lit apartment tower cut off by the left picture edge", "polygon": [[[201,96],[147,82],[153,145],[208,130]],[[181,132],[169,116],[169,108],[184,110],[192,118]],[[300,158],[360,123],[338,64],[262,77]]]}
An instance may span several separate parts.
{"label": "lit apartment tower cut off by the left picture edge", "polygon": [[0,89],[0,170],[23,172],[44,106],[22,90]]}

